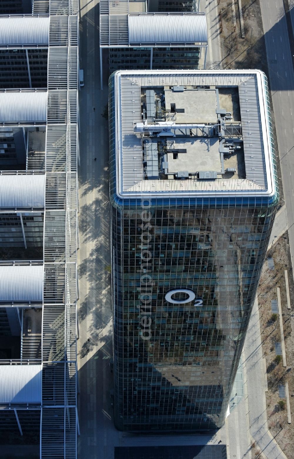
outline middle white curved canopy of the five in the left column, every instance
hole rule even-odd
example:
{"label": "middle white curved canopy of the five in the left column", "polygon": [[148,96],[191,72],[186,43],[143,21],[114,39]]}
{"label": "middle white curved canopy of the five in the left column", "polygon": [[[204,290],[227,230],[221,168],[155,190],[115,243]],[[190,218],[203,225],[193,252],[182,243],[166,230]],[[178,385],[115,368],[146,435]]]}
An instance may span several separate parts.
{"label": "middle white curved canopy of the five in the left column", "polygon": [[0,175],[0,208],[44,207],[45,175]]}

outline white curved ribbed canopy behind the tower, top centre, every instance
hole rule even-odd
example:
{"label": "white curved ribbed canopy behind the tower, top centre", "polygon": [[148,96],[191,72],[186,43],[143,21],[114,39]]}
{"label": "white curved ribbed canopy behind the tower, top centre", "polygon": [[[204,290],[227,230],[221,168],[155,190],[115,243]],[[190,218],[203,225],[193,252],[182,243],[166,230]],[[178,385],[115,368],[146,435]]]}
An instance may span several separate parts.
{"label": "white curved ribbed canopy behind the tower, top centre", "polygon": [[207,41],[205,15],[129,15],[129,43],[199,43]]}

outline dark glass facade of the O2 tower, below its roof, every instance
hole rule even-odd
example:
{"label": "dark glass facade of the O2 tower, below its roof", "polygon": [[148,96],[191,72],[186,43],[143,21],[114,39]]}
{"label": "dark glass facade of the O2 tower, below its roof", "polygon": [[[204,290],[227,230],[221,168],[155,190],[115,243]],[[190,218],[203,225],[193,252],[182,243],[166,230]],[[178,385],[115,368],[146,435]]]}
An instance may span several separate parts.
{"label": "dark glass facade of the O2 tower, below its roof", "polygon": [[[114,87],[113,74],[115,424],[136,432],[216,429],[228,408],[278,191],[269,198],[119,198]],[[177,289],[194,297],[179,292],[178,304],[169,301]]]}

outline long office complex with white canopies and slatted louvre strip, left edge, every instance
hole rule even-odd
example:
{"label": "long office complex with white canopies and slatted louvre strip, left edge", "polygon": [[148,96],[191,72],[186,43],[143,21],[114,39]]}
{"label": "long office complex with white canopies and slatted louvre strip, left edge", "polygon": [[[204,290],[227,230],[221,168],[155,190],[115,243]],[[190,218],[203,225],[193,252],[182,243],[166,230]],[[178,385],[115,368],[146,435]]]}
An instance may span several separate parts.
{"label": "long office complex with white canopies and slatted louvre strip, left edge", "polygon": [[0,443],[75,458],[78,1],[15,3],[0,8]]}

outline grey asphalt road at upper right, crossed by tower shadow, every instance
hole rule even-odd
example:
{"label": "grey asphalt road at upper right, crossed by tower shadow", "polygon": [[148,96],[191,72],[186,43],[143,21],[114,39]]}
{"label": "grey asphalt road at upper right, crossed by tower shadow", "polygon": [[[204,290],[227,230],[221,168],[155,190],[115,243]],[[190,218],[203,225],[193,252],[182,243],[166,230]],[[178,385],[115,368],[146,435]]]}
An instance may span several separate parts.
{"label": "grey asphalt road at upper right, crossed by tower shadow", "polygon": [[294,72],[283,0],[260,2],[294,266]]}

